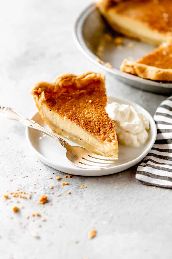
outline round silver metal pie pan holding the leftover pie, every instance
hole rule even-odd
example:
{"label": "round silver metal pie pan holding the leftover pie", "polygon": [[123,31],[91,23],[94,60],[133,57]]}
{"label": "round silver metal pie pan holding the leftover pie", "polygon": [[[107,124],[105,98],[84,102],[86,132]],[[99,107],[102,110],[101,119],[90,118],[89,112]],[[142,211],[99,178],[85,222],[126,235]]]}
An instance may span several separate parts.
{"label": "round silver metal pie pan holding the leftover pie", "polygon": [[[94,4],[89,5],[80,13],[76,19],[73,34],[79,50],[89,60],[104,69],[108,76],[142,90],[163,95],[172,93],[170,82],[151,81],[120,71],[120,65],[124,59],[138,60],[153,51],[156,46],[114,32]],[[109,42],[108,37],[107,39],[104,37],[105,34],[111,35],[114,39],[121,37],[124,46],[117,46],[114,41]],[[105,63],[97,62],[99,59]],[[109,62],[113,68],[107,67],[106,62]]]}

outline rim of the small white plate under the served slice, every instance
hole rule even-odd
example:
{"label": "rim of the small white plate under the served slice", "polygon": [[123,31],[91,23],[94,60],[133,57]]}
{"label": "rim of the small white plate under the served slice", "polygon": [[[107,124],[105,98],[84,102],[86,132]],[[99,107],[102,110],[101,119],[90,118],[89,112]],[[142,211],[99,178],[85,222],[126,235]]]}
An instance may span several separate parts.
{"label": "rim of the small white plate under the served slice", "polygon": [[[108,96],[108,98],[115,98],[116,100],[119,100],[120,102],[124,102],[124,103],[128,103],[130,105],[134,105],[134,106],[138,106],[140,107],[141,109],[144,110],[145,113],[147,113],[148,117],[149,117],[149,122],[151,124],[151,127],[152,128],[152,132],[153,132],[153,136],[152,136],[152,139],[150,141],[150,144],[149,146],[144,150],[144,152],[136,157],[135,159],[133,159],[132,161],[129,161],[127,163],[124,163],[124,164],[120,164],[120,165],[117,165],[117,166],[111,166],[110,168],[106,168],[106,169],[83,169],[83,168],[79,168],[79,167],[75,167],[75,172],[76,173],[73,173],[75,175],[82,175],[82,176],[102,176],[102,175],[110,175],[110,174],[114,174],[114,173],[117,173],[117,172],[121,172],[121,171],[124,171],[132,166],[134,166],[135,164],[137,164],[138,162],[140,162],[148,153],[149,151],[151,150],[152,146],[154,145],[154,142],[155,142],[155,139],[156,139],[156,136],[157,136],[157,127],[156,127],[156,124],[151,116],[151,114],[146,111],[146,109],[144,109],[142,106],[134,103],[134,102],[130,102],[126,99],[121,99],[121,98],[116,98],[116,97],[113,97],[113,96]],[[38,112],[34,113],[33,116],[31,117],[31,119],[33,119],[34,116],[36,116],[36,114],[38,114]],[[50,160],[48,160],[45,156],[43,156],[42,154],[40,154],[36,149],[35,147],[32,145],[32,141],[30,140],[29,138],[29,130],[30,128],[26,127],[26,131],[25,131],[25,135],[26,135],[26,140],[27,140],[27,143],[29,144],[29,146],[32,148],[32,150],[34,150],[34,152],[36,153],[36,155],[39,157],[39,159],[44,162],[45,164],[47,164],[48,166],[56,169],[56,170],[59,170],[59,171],[63,171],[63,172],[66,172],[66,173],[69,173],[71,172],[71,168],[70,167],[65,167],[65,166],[61,166],[61,165],[58,165]],[[57,169],[57,167],[59,169]],[[114,170],[114,171],[113,171]],[[94,174],[95,172],[95,174]]]}

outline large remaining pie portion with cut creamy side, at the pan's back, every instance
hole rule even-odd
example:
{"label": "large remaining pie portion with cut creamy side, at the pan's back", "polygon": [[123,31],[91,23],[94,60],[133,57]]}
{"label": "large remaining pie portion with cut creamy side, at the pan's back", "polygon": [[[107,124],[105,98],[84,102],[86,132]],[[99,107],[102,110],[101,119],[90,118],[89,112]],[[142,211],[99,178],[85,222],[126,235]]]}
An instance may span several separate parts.
{"label": "large remaining pie portion with cut creamy side, at the pan's back", "polygon": [[96,5],[111,27],[156,45],[172,31],[171,0],[101,0]]}

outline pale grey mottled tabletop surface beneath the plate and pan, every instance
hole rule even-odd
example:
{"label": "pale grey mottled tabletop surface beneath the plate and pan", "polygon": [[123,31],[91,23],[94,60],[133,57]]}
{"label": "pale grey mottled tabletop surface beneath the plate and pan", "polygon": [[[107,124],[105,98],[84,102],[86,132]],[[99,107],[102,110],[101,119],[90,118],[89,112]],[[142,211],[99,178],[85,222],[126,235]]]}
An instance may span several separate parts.
{"label": "pale grey mottled tabletop surface beneath the plate and pan", "polygon": [[[52,81],[60,73],[103,72],[79,52],[72,38],[73,22],[90,2],[1,1],[0,104],[31,117],[36,107],[29,89],[37,81]],[[137,102],[152,115],[165,99],[108,77],[106,87],[108,95]],[[170,258],[171,190],[142,185],[135,180],[135,170],[68,178],[68,186],[59,183],[60,189],[55,187],[54,194],[48,194],[53,205],[42,208],[36,201],[51,191],[48,186],[57,184],[55,177],[61,173],[37,162],[26,143],[24,126],[0,119],[0,258]],[[88,188],[81,189],[81,184]],[[30,200],[16,203],[12,198],[6,205],[3,195],[16,189],[36,193]],[[56,196],[58,192],[61,197]],[[24,208],[14,214],[14,205]],[[25,219],[34,211],[47,221]],[[97,236],[90,240],[92,227]],[[32,231],[40,238],[32,236]]]}

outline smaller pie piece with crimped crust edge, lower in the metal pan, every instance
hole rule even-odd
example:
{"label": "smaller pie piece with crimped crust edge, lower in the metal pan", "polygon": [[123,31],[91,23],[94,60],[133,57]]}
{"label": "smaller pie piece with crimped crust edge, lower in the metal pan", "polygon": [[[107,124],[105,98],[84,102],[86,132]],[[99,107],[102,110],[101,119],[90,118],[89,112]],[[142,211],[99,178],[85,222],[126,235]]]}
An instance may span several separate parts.
{"label": "smaller pie piece with crimped crust edge, lower in the metal pan", "polygon": [[136,62],[124,60],[121,71],[151,80],[172,81],[172,38]]}

